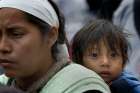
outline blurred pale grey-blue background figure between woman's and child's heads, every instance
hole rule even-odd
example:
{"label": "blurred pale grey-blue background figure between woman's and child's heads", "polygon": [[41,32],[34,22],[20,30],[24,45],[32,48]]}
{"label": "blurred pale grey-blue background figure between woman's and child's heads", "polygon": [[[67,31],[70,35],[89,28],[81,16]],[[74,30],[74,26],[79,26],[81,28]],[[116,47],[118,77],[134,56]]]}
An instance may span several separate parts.
{"label": "blurred pale grey-blue background figure between woman's and child's heads", "polygon": [[[70,41],[73,35],[87,22],[94,19],[86,0],[54,0],[66,18],[66,34]],[[94,0],[93,0],[94,1]],[[96,0],[95,0],[96,1]]]}

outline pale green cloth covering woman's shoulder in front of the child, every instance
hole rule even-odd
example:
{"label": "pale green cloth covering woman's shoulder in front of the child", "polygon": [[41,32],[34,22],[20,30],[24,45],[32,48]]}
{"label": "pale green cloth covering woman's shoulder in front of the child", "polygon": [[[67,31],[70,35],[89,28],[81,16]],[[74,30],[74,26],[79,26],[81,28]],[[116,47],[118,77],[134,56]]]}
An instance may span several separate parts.
{"label": "pale green cloth covering woman's shoulder in front of the child", "polygon": [[78,64],[70,64],[59,71],[41,93],[83,93],[88,90],[110,93],[108,86],[95,72]]}

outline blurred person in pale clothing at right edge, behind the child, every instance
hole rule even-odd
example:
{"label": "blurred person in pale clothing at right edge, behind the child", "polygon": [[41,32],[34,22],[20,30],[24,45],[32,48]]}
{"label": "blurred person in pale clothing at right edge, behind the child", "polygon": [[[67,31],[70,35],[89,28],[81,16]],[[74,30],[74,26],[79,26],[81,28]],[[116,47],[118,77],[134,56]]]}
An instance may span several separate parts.
{"label": "blurred person in pale clothing at right edge, behind the child", "polygon": [[129,64],[126,70],[140,79],[140,1],[123,0],[113,14],[113,23],[119,25],[130,34],[128,40],[131,44],[129,51]]}

